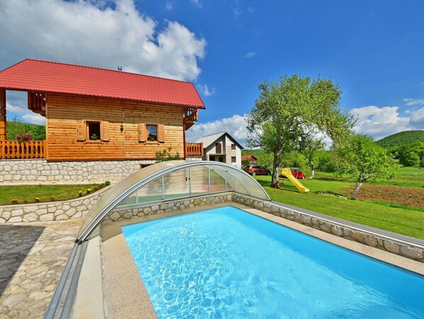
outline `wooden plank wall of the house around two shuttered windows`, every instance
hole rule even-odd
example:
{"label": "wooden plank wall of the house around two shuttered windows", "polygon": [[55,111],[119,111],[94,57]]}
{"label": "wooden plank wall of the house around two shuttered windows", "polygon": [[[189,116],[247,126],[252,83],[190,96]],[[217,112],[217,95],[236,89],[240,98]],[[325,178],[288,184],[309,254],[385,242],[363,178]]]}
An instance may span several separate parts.
{"label": "wooden plank wall of the house around two shuttered windows", "polygon": [[[51,93],[47,104],[50,161],[155,159],[157,151],[168,147],[184,156],[182,107]],[[80,120],[108,121],[109,141],[78,141]],[[163,124],[164,143],[139,142],[139,123]]]}

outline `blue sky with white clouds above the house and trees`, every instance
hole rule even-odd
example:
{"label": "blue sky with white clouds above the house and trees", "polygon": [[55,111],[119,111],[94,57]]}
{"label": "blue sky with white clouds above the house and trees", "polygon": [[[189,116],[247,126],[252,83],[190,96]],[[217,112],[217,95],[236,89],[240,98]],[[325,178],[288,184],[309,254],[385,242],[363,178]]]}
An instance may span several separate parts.
{"label": "blue sky with white clouds above the house and trees", "polygon": [[[424,1],[0,1],[0,70],[25,58],[193,82],[206,110],[188,141],[228,131],[240,144],[258,85],[329,78],[355,131],[424,129]],[[8,92],[8,119],[44,124]]]}

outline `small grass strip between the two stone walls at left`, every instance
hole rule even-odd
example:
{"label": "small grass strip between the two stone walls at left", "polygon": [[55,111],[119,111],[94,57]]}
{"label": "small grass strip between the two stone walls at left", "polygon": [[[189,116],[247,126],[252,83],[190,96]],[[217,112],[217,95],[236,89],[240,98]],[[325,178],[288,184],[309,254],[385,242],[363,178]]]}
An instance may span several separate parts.
{"label": "small grass strip between the two stone walls at left", "polygon": [[99,187],[98,184],[0,186],[0,205],[10,205],[13,198],[16,198],[19,204],[35,202],[34,198],[40,198],[40,202],[50,202],[52,195],[55,200],[70,200],[78,198],[80,190],[85,195],[87,188],[93,190],[96,186]]}

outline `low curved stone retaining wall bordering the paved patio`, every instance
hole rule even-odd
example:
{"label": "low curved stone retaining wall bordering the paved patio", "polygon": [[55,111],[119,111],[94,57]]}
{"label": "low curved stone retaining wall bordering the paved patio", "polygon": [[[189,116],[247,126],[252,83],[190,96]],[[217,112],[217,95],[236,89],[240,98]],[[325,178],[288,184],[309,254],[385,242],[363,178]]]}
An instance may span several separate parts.
{"label": "low curved stone retaining wall bordering the paved patio", "polygon": [[94,202],[110,188],[96,193],[60,202],[34,202],[23,205],[0,206],[0,224],[13,222],[45,222],[49,220],[69,220],[87,215]]}

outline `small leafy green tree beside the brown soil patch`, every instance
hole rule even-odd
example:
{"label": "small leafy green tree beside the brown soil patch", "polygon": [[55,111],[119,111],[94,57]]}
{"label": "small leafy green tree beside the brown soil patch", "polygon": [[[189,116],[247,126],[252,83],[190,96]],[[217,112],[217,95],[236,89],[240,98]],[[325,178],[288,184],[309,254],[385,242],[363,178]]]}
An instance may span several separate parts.
{"label": "small leafy green tree beside the brown soil patch", "polygon": [[356,178],[352,200],[357,198],[359,189],[367,180],[391,179],[396,176],[397,161],[386,149],[375,144],[371,136],[355,134],[335,152],[339,173],[349,173]]}

